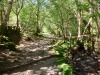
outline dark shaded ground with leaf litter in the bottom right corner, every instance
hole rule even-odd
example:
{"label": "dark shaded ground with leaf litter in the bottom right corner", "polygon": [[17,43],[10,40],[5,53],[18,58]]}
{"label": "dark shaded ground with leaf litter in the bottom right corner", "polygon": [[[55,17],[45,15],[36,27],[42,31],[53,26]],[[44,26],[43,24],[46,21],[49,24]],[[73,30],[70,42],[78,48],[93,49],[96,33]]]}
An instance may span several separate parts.
{"label": "dark shaded ground with leaf litter in the bottom right corner", "polygon": [[73,66],[75,75],[100,75],[100,55],[97,53],[90,56],[76,54],[69,63]]}

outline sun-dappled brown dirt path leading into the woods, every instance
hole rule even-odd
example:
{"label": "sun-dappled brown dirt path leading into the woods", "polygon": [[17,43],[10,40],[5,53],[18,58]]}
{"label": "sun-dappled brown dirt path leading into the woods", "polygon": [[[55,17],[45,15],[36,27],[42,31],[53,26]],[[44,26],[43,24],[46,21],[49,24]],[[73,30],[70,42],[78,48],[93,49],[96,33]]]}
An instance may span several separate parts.
{"label": "sun-dappled brown dirt path leading into the woods", "polygon": [[53,64],[57,59],[51,55],[51,42],[56,38],[47,37],[36,42],[28,42],[17,46],[21,53],[7,53],[6,64],[0,67],[0,75],[61,75]]}

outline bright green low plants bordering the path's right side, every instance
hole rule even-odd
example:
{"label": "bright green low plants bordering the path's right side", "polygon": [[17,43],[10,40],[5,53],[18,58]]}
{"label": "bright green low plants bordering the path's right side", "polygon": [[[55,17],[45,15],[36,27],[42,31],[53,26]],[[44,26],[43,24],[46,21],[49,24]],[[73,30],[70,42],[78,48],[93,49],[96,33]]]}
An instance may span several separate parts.
{"label": "bright green low plants bordering the path's right side", "polygon": [[[70,43],[70,42],[67,42]],[[68,53],[68,46],[66,46],[66,43],[59,43],[57,46],[54,47],[54,49],[59,53],[59,55],[62,55],[63,57],[58,58],[55,61],[55,64],[58,66],[61,72],[64,73],[64,75],[72,75],[72,68],[69,64],[67,64],[67,53]]]}

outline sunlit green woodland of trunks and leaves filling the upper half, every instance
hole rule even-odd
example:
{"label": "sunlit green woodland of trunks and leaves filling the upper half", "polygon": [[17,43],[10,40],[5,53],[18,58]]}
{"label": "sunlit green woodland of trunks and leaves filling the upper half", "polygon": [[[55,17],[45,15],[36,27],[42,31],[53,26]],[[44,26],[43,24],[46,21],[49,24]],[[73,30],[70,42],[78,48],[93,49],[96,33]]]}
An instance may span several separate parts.
{"label": "sunlit green woodland of trunks and leaves filling the upper half", "polygon": [[[77,38],[91,43],[99,41],[99,18],[99,0],[0,1],[0,34],[9,39],[13,31],[7,32],[12,28],[19,31],[13,37],[20,33],[23,36],[51,35],[61,37],[64,42]],[[99,46],[99,42],[96,45]]]}

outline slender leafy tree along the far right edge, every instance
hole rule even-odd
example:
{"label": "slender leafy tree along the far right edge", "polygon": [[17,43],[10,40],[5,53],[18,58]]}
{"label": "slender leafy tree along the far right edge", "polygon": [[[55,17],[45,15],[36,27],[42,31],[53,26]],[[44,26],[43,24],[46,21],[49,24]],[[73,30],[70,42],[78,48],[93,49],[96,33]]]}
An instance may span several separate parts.
{"label": "slender leafy tree along the far right edge", "polygon": [[95,21],[95,23],[96,23],[96,26],[97,26],[97,39],[96,39],[96,41],[97,41],[97,46],[98,46],[98,50],[100,49],[100,42],[99,42],[99,39],[100,39],[100,21],[99,21],[99,19],[100,19],[100,10],[99,10],[99,6],[98,6],[98,4],[100,4],[100,1],[99,0],[88,0],[88,2],[89,2],[89,4],[91,5],[91,8],[92,8],[92,10],[93,10],[93,12],[92,12],[92,18],[93,18],[93,20]]}

